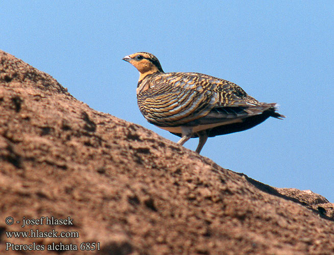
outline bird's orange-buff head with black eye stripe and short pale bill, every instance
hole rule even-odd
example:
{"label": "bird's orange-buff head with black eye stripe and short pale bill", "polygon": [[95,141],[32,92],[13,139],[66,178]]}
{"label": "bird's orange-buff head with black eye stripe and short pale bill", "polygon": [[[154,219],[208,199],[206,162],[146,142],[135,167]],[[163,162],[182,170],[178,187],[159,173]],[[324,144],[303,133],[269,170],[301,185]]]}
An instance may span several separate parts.
{"label": "bird's orange-buff head with black eye stripe and short pale bill", "polygon": [[[140,72],[140,78],[144,78],[147,74],[155,72],[163,72],[159,60],[151,53],[137,52],[125,56],[123,60],[129,62]],[[139,78],[139,80],[140,80]]]}

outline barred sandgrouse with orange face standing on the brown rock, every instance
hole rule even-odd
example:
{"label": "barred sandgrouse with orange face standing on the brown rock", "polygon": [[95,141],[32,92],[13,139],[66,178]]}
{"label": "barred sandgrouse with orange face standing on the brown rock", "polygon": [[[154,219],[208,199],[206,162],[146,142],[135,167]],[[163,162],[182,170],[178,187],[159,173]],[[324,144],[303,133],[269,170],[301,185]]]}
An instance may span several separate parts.
{"label": "barred sandgrouse with orange face standing on the brown rock", "polygon": [[123,60],[139,71],[137,103],[146,120],[181,137],[199,138],[200,154],[208,137],[248,130],[269,117],[282,119],[276,103],[260,103],[240,86],[197,72],[164,72],[147,52]]}

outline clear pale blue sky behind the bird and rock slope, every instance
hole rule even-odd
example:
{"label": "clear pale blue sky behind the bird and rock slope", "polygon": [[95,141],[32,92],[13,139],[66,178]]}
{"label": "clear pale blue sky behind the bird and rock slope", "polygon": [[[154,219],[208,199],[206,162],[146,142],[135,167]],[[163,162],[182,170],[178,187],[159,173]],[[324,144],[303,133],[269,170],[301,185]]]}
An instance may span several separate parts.
{"label": "clear pale blue sky behind the bird and rock slope", "polygon": [[234,82],[278,103],[287,118],[209,138],[201,154],[334,202],[333,13],[333,1],[6,1],[0,49],[51,74],[91,108],[175,142],[140,114],[139,74],[122,58],[150,52],[166,72]]}

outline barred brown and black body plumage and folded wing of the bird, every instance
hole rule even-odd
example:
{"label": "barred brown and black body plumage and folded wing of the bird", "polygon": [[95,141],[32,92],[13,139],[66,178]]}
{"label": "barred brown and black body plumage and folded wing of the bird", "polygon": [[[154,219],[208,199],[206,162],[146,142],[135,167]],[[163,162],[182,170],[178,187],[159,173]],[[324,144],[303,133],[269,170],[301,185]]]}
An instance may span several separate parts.
{"label": "barred brown and black body plumage and folded wing of the bird", "polygon": [[145,118],[160,127],[241,122],[275,107],[260,103],[234,83],[193,72],[148,74],[138,83],[137,99]]}

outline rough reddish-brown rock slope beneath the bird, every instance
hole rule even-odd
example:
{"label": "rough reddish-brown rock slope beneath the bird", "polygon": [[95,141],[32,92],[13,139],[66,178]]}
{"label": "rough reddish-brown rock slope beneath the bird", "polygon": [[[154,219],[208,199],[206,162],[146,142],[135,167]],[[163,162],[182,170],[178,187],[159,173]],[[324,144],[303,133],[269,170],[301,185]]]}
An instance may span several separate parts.
{"label": "rough reddish-brown rock slope beneath the bird", "polygon": [[[324,197],[223,169],[89,108],[1,51],[0,108],[1,254],[334,254],[333,204]],[[23,217],[46,216],[73,225],[21,227]],[[31,229],[79,238],[7,237]],[[45,250],[6,251],[6,242]],[[79,250],[46,250],[53,242]],[[82,251],[83,242],[101,250]]]}

